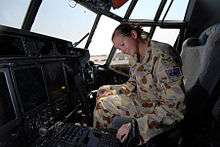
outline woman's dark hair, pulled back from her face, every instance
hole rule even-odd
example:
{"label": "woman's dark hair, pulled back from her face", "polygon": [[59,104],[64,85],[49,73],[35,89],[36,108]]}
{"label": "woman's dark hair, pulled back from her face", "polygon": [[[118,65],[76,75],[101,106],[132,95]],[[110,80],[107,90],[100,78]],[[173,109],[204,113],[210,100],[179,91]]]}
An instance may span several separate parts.
{"label": "woman's dark hair, pulled back from her face", "polygon": [[130,37],[131,32],[136,31],[137,37],[141,40],[150,40],[149,33],[145,32],[140,26],[134,25],[131,23],[121,23],[113,32],[112,34],[112,40],[116,34],[116,32],[120,33],[123,36]]}

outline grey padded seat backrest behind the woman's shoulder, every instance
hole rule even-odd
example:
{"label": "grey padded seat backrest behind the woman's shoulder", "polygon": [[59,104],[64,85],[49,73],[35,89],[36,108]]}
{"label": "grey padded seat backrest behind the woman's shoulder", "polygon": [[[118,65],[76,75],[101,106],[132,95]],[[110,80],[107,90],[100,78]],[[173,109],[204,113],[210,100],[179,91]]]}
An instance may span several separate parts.
{"label": "grey padded seat backrest behind the woman's shoulder", "polygon": [[199,82],[210,94],[220,76],[220,24],[209,27],[199,38],[185,40],[181,58],[186,91]]}

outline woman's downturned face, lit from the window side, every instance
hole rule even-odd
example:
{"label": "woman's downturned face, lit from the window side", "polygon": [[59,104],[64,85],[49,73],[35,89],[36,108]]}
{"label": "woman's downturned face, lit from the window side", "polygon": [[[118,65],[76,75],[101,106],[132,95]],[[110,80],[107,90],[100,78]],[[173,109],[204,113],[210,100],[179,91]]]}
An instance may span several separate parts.
{"label": "woman's downturned face, lit from the window side", "polygon": [[114,47],[125,54],[133,56],[137,53],[138,41],[136,32],[132,32],[131,36],[123,36],[116,32],[113,38]]}

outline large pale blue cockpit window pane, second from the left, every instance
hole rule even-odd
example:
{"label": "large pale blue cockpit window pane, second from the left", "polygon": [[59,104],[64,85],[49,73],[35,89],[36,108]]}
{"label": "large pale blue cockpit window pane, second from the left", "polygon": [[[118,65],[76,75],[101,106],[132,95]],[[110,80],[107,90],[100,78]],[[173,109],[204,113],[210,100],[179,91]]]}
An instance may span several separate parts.
{"label": "large pale blue cockpit window pane, second from the left", "polygon": [[[72,1],[44,0],[31,31],[74,43],[90,32],[95,17],[95,13]],[[84,48],[86,40],[77,47]]]}

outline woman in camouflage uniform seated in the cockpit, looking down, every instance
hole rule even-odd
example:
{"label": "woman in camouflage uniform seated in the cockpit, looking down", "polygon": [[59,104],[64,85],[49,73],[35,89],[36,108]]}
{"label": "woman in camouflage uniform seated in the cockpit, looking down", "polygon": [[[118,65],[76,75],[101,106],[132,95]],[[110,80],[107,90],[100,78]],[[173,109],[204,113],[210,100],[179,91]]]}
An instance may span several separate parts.
{"label": "woman in camouflage uniform seated in the cockpit, looking down", "polygon": [[[180,58],[170,45],[151,40],[139,26],[128,23],[115,29],[112,41],[115,48],[131,56],[130,78],[121,85],[99,88],[93,125],[110,128],[115,117],[135,118],[143,144],[184,117]],[[116,137],[123,142],[129,129],[125,121]]]}

